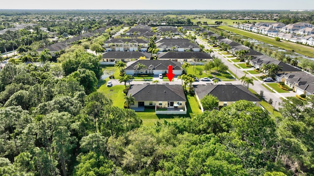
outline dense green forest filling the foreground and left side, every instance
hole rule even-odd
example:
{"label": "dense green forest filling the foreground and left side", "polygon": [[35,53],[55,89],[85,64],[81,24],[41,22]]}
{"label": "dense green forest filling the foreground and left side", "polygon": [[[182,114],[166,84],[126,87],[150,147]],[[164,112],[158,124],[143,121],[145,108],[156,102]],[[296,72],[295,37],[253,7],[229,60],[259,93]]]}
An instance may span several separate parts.
{"label": "dense green forest filling the foreground and left side", "polygon": [[239,101],[147,127],[96,91],[96,56],[67,53],[0,72],[0,175],[313,175],[314,96],[276,118]]}

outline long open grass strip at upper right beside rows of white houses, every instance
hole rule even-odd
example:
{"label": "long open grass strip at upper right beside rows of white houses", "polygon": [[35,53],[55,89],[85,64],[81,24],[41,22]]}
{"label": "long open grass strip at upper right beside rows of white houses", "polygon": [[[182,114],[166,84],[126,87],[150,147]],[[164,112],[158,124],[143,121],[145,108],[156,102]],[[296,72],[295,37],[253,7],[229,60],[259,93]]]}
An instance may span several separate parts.
{"label": "long open grass strip at upper right beside rows of white houses", "polygon": [[227,30],[230,32],[234,32],[236,34],[239,34],[239,35],[242,35],[245,37],[249,37],[251,39],[255,39],[255,40],[267,43],[267,44],[272,44],[274,46],[278,46],[278,47],[281,47],[281,48],[286,49],[286,50],[294,50],[294,52],[297,52],[297,53],[303,54],[305,56],[309,56],[309,57],[314,58],[314,49],[313,49],[313,47],[310,47],[310,46],[305,46],[302,44],[296,44],[296,43],[287,42],[287,41],[277,42],[272,37],[263,36],[260,34],[256,34],[256,33],[241,30],[241,29],[237,29],[237,28],[230,27],[230,26],[219,26],[218,28],[224,29],[224,30]]}

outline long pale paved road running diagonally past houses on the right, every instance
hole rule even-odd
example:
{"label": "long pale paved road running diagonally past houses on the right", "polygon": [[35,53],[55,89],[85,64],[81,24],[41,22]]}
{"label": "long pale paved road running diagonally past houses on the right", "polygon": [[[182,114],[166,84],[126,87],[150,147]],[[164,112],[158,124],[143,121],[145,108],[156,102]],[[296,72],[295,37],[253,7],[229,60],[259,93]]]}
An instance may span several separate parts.
{"label": "long pale paved road running diagonally past houses on the right", "polygon": [[[205,46],[205,49],[212,49],[213,50],[213,54],[215,55],[215,57],[220,58],[225,63],[225,65],[227,65],[229,67],[229,70],[232,71],[233,73],[235,73],[235,75],[238,78],[242,77],[242,76],[244,76],[246,74],[246,73],[243,72],[243,70],[248,70],[248,69],[237,68],[236,66],[234,66],[234,63],[231,63],[231,62],[227,61],[227,59],[225,57],[223,57],[223,54],[220,54],[217,50],[215,50],[214,48],[209,46],[209,44],[206,44],[204,41],[202,41],[199,37],[197,37],[196,41],[198,42],[198,44],[203,44]],[[250,78],[251,77],[255,77],[255,75],[252,75],[252,74],[248,74],[246,76],[250,77]],[[261,76],[261,75],[256,75],[256,76]],[[241,84],[241,82],[238,82],[238,83]],[[296,95],[296,93],[294,93],[294,92],[278,93],[275,90],[273,90],[275,92],[275,93],[273,93],[273,92],[269,91],[267,88],[264,88],[262,86],[262,84],[265,84],[265,83],[263,83],[260,80],[259,81],[254,80],[253,83],[254,83],[254,85],[250,85],[250,88],[255,90],[257,93],[260,93],[260,91],[263,90],[264,91],[264,99],[266,101],[268,101],[270,98],[272,98],[273,99],[273,106],[275,106],[275,102],[276,102],[276,106],[275,106],[276,109],[278,109],[280,107],[279,103],[282,102],[281,98],[285,98],[285,97],[288,97],[288,96],[295,96]],[[233,82],[233,84],[235,84],[235,83]],[[268,87],[268,88],[270,88],[270,87]],[[270,89],[272,89],[272,88],[270,88]]]}

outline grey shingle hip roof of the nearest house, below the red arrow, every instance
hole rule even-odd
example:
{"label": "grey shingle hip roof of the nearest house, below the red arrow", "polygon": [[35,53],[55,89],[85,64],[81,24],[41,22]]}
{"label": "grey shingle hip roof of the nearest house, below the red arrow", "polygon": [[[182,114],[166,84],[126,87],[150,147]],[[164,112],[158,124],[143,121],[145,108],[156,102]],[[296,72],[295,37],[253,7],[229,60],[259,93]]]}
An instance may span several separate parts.
{"label": "grey shingle hip roof of the nearest house, below the red arrow", "polygon": [[186,101],[181,85],[131,85],[130,94],[135,101]]}

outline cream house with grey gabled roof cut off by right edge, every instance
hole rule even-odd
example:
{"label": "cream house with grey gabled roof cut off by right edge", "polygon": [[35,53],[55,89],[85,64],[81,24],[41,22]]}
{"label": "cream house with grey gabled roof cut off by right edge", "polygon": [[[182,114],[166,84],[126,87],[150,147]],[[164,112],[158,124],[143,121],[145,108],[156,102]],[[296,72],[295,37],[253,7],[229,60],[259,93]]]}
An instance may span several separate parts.
{"label": "cream house with grey gabled roof cut off by right edge", "polygon": [[276,79],[284,82],[289,88],[293,88],[299,95],[314,94],[314,75],[307,72],[279,74],[276,76]]}

